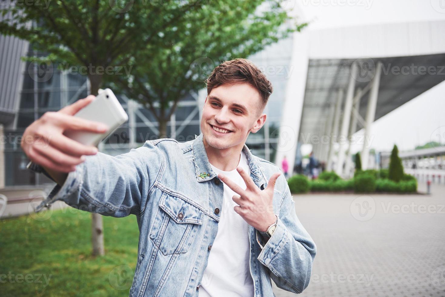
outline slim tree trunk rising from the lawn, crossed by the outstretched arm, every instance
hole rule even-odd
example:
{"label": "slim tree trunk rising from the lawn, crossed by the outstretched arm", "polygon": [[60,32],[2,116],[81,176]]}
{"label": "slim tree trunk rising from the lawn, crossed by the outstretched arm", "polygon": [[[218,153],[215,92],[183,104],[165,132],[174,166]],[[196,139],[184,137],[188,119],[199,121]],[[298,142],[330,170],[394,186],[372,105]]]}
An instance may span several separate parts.
{"label": "slim tree trunk rising from the lawn, crossed by the outstretched arm", "polygon": [[[102,76],[94,73],[89,73],[89,81],[91,83],[90,93],[97,96],[97,91],[102,85]],[[102,215],[98,213],[91,214],[92,230],[91,230],[91,244],[93,245],[93,256],[105,255],[104,247],[104,226],[102,222]]]}

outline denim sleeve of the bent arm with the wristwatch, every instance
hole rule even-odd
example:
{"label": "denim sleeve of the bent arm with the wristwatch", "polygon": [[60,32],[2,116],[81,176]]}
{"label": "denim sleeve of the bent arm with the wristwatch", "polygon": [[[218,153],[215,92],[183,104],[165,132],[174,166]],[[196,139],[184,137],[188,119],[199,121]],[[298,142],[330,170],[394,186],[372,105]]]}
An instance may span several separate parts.
{"label": "denim sleeve of the bent arm with the wristwatch", "polygon": [[316,245],[298,220],[288,186],[285,195],[272,236],[265,242],[259,231],[256,231],[261,247],[257,259],[271,270],[271,278],[277,287],[301,293],[311,279]]}

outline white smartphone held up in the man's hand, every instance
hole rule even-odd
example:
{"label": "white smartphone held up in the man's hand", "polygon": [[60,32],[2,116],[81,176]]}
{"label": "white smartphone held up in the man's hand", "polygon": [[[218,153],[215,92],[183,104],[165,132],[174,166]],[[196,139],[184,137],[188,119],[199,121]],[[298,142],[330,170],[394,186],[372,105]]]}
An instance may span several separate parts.
{"label": "white smartphone held up in the man's hand", "polygon": [[102,139],[111,134],[117,127],[128,120],[128,115],[121,106],[113,91],[110,89],[101,90],[96,98],[87,106],[79,110],[75,117],[86,120],[101,122],[109,127],[104,133],[94,133],[87,131],[65,130],[64,135],[85,145],[97,146]]}

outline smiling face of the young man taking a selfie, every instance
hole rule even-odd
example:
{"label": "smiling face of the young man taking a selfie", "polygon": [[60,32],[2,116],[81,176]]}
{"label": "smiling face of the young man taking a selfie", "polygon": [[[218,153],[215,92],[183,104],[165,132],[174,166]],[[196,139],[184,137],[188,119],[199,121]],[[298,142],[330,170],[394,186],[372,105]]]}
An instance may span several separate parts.
{"label": "smiling face of the young man taking a selfie", "polygon": [[[206,142],[217,149],[244,144],[249,133],[256,133],[266,121],[266,114],[260,114],[260,105],[259,92],[247,83],[212,89],[204,102],[201,118]],[[218,132],[214,127],[230,132]]]}

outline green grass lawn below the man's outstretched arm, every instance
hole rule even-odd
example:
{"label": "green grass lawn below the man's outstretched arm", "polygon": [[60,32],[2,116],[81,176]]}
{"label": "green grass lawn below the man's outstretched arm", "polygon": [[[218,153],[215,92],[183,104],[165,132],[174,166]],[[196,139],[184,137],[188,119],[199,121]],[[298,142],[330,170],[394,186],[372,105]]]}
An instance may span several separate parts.
{"label": "green grass lawn below the man's outstretched arm", "polygon": [[[50,213],[49,213],[50,214]],[[105,256],[91,256],[91,214],[0,220],[0,296],[128,296],[138,255],[135,216],[103,216]]]}

